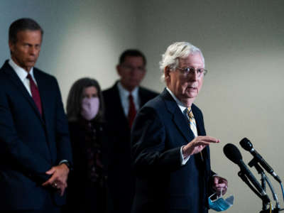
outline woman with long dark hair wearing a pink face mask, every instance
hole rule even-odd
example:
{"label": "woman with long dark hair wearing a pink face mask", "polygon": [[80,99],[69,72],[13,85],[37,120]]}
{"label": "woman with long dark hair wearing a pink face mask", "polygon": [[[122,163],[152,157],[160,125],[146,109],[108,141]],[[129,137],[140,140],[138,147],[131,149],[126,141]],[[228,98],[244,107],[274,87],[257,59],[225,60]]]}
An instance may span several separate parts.
{"label": "woman with long dark hair wearing a pink face mask", "polygon": [[97,80],[82,78],[67,98],[74,170],[70,174],[66,212],[107,212],[107,133]]}

